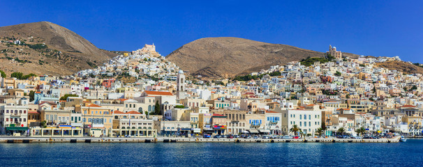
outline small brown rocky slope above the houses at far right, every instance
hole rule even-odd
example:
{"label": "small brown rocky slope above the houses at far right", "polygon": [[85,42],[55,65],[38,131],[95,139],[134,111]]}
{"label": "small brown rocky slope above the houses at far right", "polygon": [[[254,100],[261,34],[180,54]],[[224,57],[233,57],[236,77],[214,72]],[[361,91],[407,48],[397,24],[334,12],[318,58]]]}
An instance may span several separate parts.
{"label": "small brown rocky slope above the houses at far right", "polygon": [[403,61],[385,61],[382,63],[376,63],[377,67],[384,67],[389,70],[397,70],[404,74],[423,74],[423,67],[413,65]]}

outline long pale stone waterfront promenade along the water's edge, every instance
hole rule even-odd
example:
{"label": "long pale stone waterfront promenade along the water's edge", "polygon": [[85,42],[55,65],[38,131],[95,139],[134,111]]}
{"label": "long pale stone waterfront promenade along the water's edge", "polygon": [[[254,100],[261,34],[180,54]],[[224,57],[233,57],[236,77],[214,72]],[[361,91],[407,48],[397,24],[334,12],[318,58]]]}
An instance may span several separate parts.
{"label": "long pale stone waterfront promenade along the water's edge", "polygon": [[0,137],[0,143],[398,143],[394,138],[93,138],[93,137]]}

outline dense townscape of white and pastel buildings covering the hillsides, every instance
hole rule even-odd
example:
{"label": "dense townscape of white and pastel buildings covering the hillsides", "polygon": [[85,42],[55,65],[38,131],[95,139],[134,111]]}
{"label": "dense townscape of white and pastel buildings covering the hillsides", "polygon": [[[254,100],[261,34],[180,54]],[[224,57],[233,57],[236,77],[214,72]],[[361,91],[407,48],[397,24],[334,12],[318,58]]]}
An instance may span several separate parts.
{"label": "dense townscape of white and pastel buildings covering the hillsides", "polygon": [[234,79],[191,76],[154,45],[73,76],[2,74],[1,134],[14,136],[422,135],[422,74],[329,47]]}

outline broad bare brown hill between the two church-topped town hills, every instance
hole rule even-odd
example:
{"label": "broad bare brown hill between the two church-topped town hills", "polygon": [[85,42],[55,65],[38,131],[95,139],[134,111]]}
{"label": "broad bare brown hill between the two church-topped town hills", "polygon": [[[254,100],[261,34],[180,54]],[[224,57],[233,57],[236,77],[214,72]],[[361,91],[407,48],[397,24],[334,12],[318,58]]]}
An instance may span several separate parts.
{"label": "broad bare brown hill between the two church-topped town hills", "polygon": [[325,53],[243,38],[201,38],[166,56],[182,70],[202,77],[234,77]]}

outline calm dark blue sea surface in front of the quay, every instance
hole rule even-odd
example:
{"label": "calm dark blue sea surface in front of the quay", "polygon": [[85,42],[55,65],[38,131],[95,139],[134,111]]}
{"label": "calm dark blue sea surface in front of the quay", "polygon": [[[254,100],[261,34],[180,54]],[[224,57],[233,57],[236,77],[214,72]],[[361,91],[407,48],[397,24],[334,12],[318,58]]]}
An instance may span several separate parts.
{"label": "calm dark blue sea surface in front of the quay", "polygon": [[423,166],[406,143],[2,143],[1,166]]}

